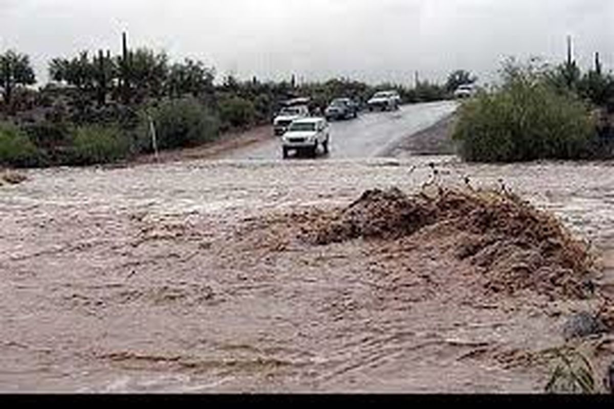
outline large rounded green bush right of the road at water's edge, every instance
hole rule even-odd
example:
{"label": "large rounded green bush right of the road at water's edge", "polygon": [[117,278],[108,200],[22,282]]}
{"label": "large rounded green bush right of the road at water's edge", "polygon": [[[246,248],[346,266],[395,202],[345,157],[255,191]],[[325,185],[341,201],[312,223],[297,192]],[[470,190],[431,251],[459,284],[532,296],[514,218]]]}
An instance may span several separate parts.
{"label": "large rounded green bush right of the road at water's edge", "polygon": [[588,107],[543,80],[516,73],[492,93],[465,102],[453,132],[468,161],[580,159],[594,154]]}

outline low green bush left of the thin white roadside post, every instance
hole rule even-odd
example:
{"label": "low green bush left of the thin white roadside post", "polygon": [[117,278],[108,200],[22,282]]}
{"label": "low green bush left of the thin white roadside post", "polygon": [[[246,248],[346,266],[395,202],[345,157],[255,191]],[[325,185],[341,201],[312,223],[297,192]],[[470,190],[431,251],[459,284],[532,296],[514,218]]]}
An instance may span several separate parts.
{"label": "low green bush left of the thin white roadside post", "polygon": [[117,126],[87,125],[74,129],[71,164],[119,161],[130,153],[130,142]]}

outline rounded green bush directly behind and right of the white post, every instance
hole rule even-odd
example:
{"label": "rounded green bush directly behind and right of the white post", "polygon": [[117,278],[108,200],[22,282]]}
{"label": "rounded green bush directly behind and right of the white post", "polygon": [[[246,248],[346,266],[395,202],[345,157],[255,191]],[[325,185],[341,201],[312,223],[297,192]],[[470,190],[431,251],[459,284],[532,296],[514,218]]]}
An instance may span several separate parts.
{"label": "rounded green bush directly behind and right of the white post", "polygon": [[[163,102],[151,112],[160,150],[192,147],[217,139],[219,120],[196,99]],[[147,121],[141,128],[139,138],[146,141],[147,150],[150,151],[152,143]]]}

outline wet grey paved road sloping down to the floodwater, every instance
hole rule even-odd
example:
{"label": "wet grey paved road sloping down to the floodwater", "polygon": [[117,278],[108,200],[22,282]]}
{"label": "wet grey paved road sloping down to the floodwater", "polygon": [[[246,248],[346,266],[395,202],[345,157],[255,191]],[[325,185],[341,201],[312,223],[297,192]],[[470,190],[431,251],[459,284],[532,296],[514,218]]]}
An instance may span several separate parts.
{"label": "wet grey paved road sloping down to the floodwater", "polygon": [[[371,158],[383,153],[403,137],[416,134],[453,113],[457,102],[405,105],[395,112],[364,112],[356,120],[335,121],[330,126],[331,148],[326,158]],[[231,151],[225,159],[278,159],[278,139]],[[324,159],[320,152],[319,159]]]}

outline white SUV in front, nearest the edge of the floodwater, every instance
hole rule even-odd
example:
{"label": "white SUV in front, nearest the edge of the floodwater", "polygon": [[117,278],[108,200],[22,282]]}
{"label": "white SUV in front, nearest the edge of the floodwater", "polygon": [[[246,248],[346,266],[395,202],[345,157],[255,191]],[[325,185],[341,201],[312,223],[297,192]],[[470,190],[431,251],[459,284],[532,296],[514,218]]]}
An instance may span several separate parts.
{"label": "white SUV in front, nearest the edge of the floodwater", "polygon": [[328,143],[330,143],[328,122],[324,118],[305,118],[293,121],[281,140],[284,159],[288,157],[290,150],[308,151],[311,156],[315,157],[318,145],[322,145],[326,154]]}

